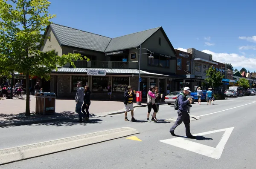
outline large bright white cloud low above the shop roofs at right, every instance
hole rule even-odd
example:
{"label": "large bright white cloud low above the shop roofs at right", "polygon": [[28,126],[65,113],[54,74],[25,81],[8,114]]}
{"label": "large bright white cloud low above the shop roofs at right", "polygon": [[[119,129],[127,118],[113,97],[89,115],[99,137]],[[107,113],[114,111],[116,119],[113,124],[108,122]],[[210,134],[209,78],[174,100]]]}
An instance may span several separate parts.
{"label": "large bright white cloud low above the shop roofs at right", "polygon": [[256,68],[256,59],[253,57],[245,57],[244,55],[239,55],[235,53],[215,53],[209,50],[203,50],[202,52],[212,54],[212,60],[216,60],[221,63],[231,63],[235,68],[244,67],[245,69]]}

